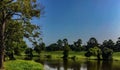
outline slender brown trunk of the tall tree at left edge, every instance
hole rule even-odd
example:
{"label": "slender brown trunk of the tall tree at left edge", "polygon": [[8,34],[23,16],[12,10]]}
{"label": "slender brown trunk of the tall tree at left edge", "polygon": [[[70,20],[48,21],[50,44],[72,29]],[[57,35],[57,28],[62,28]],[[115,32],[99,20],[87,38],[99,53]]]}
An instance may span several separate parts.
{"label": "slender brown trunk of the tall tree at left edge", "polygon": [[5,23],[0,25],[0,70],[4,70]]}

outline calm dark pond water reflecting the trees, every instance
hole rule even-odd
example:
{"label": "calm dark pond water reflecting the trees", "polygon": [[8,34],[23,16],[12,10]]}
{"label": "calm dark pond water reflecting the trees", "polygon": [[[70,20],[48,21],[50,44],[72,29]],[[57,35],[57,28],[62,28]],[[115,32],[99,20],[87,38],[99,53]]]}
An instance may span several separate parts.
{"label": "calm dark pond water reflecting the trees", "polygon": [[44,70],[120,70],[120,61],[62,61],[37,60],[44,65]]}

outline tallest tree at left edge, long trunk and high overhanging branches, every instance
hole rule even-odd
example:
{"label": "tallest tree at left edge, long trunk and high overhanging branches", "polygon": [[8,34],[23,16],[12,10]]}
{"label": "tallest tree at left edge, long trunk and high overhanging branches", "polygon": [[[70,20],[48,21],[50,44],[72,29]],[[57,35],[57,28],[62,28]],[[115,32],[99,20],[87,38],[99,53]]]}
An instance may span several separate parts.
{"label": "tallest tree at left edge, long trunk and high overhanging branches", "polygon": [[40,8],[36,0],[1,0],[0,12],[0,69],[3,69],[6,25],[10,20],[26,25],[33,17],[40,16]]}

